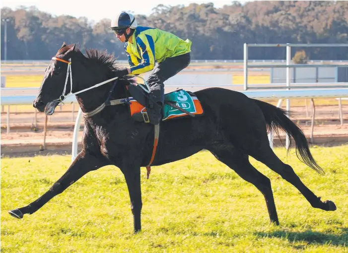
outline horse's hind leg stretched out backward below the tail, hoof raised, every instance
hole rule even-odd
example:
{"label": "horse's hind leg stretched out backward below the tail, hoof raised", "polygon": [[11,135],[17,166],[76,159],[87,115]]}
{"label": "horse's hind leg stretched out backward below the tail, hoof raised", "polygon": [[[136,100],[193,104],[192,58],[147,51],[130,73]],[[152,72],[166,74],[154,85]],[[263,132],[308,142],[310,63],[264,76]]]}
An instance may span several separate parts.
{"label": "horse's hind leg stretched out backward below the tail, hoof raised", "polygon": [[315,208],[320,208],[325,211],[335,211],[336,205],[330,200],[322,202],[320,197],[317,197],[311,190],[309,190],[295,174],[290,165],[283,163],[277,155],[273,152],[267,139],[264,145],[253,154],[252,157],[268,166],[271,170],[277,172],[283,179],[296,187],[308,202]]}

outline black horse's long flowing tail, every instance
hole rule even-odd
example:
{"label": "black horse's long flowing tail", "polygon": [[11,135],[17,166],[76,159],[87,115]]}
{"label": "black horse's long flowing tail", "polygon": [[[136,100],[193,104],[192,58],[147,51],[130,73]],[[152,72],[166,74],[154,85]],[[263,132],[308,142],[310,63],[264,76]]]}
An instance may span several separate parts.
{"label": "black horse's long flowing tail", "polygon": [[317,164],[309,150],[308,142],[303,131],[288,118],[292,116],[291,112],[260,100],[253,100],[264,114],[268,131],[270,132],[272,130],[279,136],[278,129],[280,128],[289,136],[287,153],[291,148],[292,137],[295,140],[296,156],[298,159],[319,174],[324,174],[324,170]]}

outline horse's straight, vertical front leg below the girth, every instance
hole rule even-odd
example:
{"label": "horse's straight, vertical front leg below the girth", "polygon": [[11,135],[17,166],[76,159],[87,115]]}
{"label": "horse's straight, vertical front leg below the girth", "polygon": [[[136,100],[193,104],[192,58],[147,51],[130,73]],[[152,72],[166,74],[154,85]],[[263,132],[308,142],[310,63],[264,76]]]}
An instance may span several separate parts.
{"label": "horse's straight, vertical front leg below the girth", "polygon": [[134,231],[137,233],[141,230],[141,189],[140,189],[140,167],[123,168],[122,172],[125,175],[129,195],[131,198],[131,208],[134,218]]}

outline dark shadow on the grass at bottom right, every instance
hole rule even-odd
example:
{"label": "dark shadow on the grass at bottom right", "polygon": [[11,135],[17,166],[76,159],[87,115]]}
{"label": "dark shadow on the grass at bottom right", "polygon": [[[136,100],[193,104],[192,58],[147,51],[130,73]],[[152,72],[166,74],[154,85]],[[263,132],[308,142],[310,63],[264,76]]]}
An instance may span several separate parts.
{"label": "dark shadow on the grass at bottom right", "polygon": [[289,232],[277,230],[270,233],[257,232],[258,237],[268,238],[282,238],[289,242],[306,242],[310,244],[330,244],[335,246],[347,246],[348,242],[348,228],[337,228],[337,234],[327,234],[321,232],[314,232],[307,230],[304,232]]}

